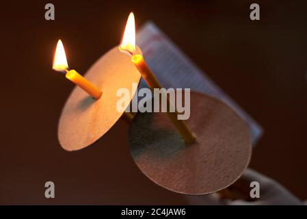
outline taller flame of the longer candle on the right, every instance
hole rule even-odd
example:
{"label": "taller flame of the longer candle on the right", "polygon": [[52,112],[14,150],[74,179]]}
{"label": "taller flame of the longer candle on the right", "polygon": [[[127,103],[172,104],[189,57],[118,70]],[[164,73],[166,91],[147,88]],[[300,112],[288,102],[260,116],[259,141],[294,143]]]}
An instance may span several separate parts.
{"label": "taller flame of the longer candle on the right", "polygon": [[135,18],[133,12],[129,14],[120,49],[129,51],[132,54],[135,53]]}

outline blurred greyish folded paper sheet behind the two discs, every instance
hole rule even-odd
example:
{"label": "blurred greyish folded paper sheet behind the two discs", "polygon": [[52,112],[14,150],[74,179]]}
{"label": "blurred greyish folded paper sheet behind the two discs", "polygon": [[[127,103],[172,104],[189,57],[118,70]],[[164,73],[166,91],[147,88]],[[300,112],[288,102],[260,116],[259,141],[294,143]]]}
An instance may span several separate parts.
{"label": "blurred greyish folded paper sheet behind the two discs", "polygon": [[[232,107],[248,125],[255,144],[263,130],[235,101],[200,70],[153,23],[148,22],[137,32],[137,45],[142,49],[148,66],[164,88],[191,88],[214,96]],[[139,87],[147,86],[142,79]]]}

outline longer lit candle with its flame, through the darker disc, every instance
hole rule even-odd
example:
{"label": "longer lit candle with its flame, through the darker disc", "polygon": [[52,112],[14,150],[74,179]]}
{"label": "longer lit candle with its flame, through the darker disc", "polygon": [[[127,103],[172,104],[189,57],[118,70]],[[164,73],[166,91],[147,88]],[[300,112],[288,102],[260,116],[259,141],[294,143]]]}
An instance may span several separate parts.
{"label": "longer lit candle with its flame, through the darker disc", "polygon": [[[141,73],[143,79],[146,81],[150,88],[161,88],[159,81],[152,74],[150,68],[146,64],[143,56],[137,54],[135,49],[135,18],[133,12],[129,14],[128,21],[126,23],[126,28],[124,29],[124,36],[122,37],[122,42],[119,47],[122,51],[128,51],[132,57],[131,62],[135,65],[139,73]],[[171,107],[170,99],[167,98],[168,106]],[[189,130],[187,125],[183,120],[177,119],[178,112],[175,109],[175,112],[168,112],[170,120],[175,125],[177,131],[181,134],[183,140],[186,143],[191,144],[195,142],[196,137]]]}

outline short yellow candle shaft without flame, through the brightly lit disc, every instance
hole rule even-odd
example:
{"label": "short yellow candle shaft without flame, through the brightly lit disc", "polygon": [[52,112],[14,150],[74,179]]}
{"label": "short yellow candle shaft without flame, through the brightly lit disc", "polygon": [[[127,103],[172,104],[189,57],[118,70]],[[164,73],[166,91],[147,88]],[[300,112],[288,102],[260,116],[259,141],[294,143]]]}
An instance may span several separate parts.
{"label": "short yellow candle shaft without flame, through the brightly lit disc", "polygon": [[90,94],[94,99],[99,99],[101,94],[103,94],[101,90],[85,79],[85,77],[77,73],[76,70],[66,70],[66,78],[88,92],[88,94]]}

